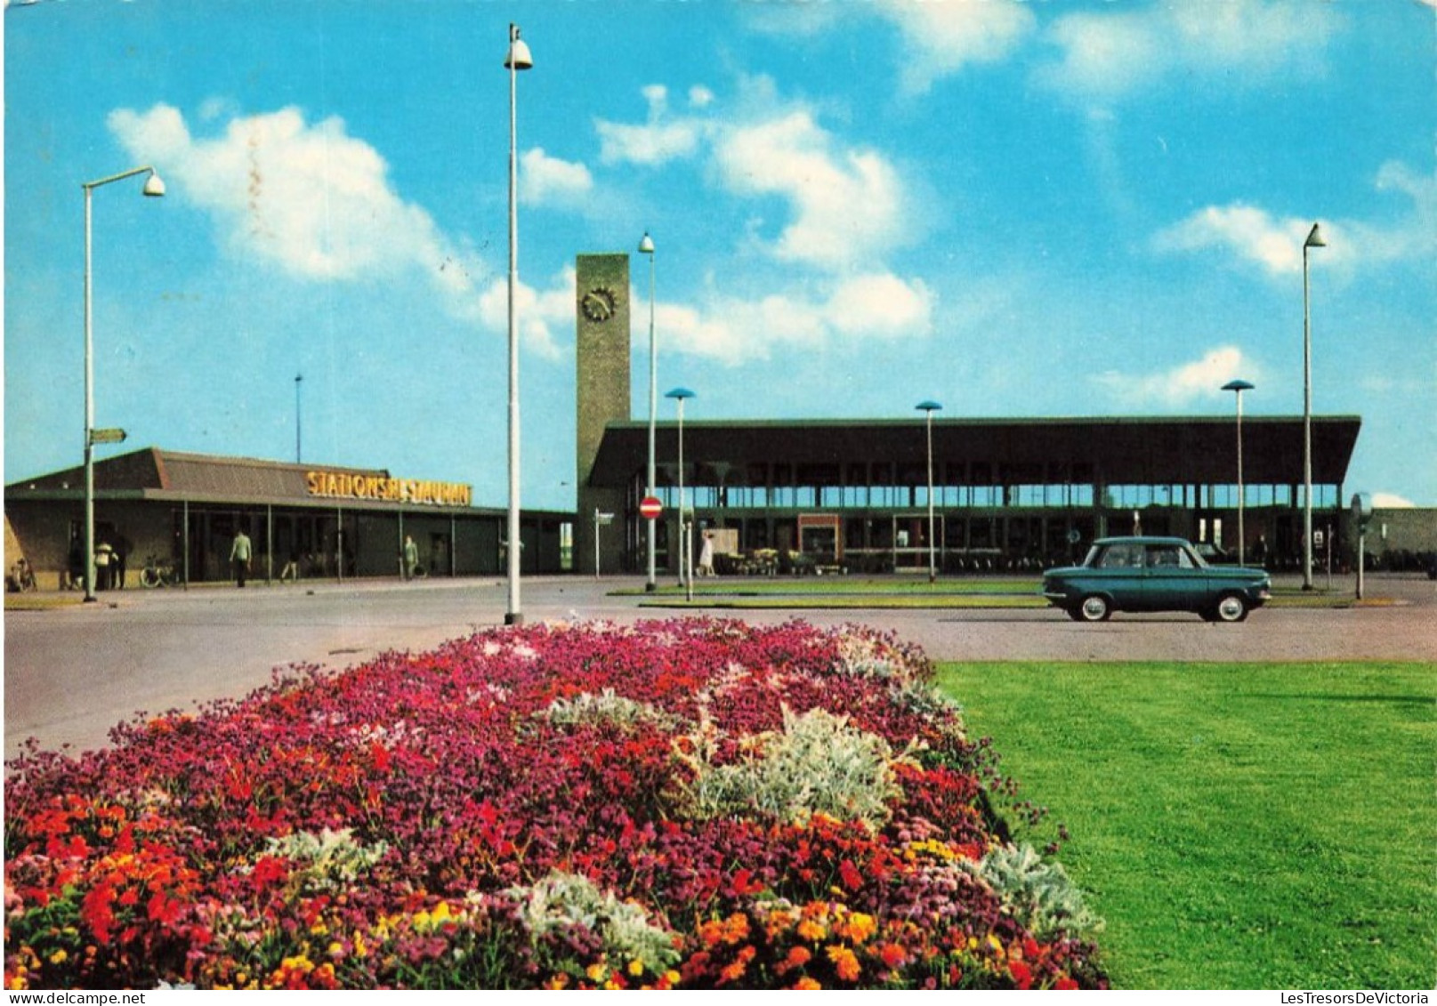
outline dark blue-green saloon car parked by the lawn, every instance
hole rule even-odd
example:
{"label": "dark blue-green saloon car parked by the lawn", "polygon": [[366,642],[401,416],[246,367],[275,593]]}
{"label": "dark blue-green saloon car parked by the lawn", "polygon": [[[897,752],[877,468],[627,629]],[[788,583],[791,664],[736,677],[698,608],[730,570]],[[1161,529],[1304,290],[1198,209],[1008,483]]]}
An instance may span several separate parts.
{"label": "dark blue-green saloon car parked by the lawn", "polygon": [[1272,598],[1265,569],[1210,566],[1183,537],[1102,537],[1081,566],[1043,573],[1043,596],[1079,622],[1115,611],[1190,611],[1240,622]]}

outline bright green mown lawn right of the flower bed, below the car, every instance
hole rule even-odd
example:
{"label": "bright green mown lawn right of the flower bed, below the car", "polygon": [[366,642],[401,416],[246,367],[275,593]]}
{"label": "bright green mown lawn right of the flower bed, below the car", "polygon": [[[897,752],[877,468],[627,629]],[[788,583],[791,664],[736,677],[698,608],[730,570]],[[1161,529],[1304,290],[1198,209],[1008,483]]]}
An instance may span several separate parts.
{"label": "bright green mown lawn right of the flower bed, below the car", "polygon": [[[946,664],[1115,986],[1433,989],[1437,665]],[[1009,815],[1016,818],[1016,815]]]}

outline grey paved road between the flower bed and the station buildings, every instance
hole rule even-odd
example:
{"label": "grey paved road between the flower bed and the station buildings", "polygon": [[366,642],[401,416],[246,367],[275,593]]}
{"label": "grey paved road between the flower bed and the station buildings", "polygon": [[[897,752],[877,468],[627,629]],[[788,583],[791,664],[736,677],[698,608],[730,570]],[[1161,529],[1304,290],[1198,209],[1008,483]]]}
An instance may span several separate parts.
{"label": "grey paved road between the flower bed and the station buildings", "polygon": [[[677,612],[614,598],[642,581],[526,581],[526,621],[670,618]],[[1368,598],[1394,604],[1345,609],[1265,608],[1242,625],[1188,615],[1118,615],[1079,625],[1050,609],[741,611],[753,622],[802,617],[821,625],[892,629],[934,660],[1417,660],[1437,665],[1437,585],[1371,578]],[[99,747],[135,713],[191,710],[241,696],[276,667],[348,667],[388,650],[425,650],[503,625],[502,581],[251,585],[121,591],[91,605],[11,611],[4,618],[4,747],[26,737],[45,749]],[[1437,673],[1437,670],[1434,670]]]}

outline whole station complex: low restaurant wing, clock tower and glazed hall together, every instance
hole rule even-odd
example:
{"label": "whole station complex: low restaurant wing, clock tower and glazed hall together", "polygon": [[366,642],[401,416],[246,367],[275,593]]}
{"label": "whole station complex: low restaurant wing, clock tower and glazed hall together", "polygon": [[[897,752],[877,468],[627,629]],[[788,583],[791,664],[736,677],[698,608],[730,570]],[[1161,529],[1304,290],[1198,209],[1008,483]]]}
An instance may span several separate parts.
{"label": "whole station complex: low restaurant wing, clock tower and glazed hall together", "polygon": [[[578,510],[523,514],[526,575],[647,569],[648,520],[639,504],[650,431],[631,401],[629,296],[627,253],[578,256]],[[657,559],[667,573],[680,566],[680,484],[694,552],[703,535],[713,535],[718,566],[739,572],[780,572],[786,562],[918,571],[930,555],[946,572],[1038,569],[1079,558],[1094,537],[1135,532],[1237,546],[1232,415],[934,418],[930,453],[930,425],[917,411],[907,418],[711,421],[696,418],[696,408],[683,425],[680,469],[673,402],[660,405]],[[1351,560],[1344,480],[1359,430],[1355,415],[1312,420],[1319,563],[1326,553],[1339,565]],[[1273,569],[1298,569],[1302,418],[1247,417],[1242,434],[1244,550],[1260,549]],[[96,461],[95,479],[95,540],[121,548],[131,575],[154,556],[180,566],[187,582],[227,579],[240,527],[254,545],[256,578],[276,578],[292,558],[302,576],[394,576],[405,536],[430,575],[504,571],[504,510],[476,507],[464,484],[161,448]],[[82,486],[83,471],[70,469],[6,487],[7,563],[10,548],[19,548],[42,586],[68,568],[82,530]],[[1394,540],[1424,548],[1437,533],[1424,513],[1411,535],[1407,519],[1394,516]]]}

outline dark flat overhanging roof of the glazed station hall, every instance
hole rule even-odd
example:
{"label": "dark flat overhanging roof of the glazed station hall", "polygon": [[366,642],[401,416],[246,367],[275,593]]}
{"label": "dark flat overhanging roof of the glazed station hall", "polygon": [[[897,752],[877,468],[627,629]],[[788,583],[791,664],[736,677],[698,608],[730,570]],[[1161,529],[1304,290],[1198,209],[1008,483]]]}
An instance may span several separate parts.
{"label": "dark flat overhanging roof of the glazed station hall", "polygon": [[[1312,481],[1346,477],[1357,415],[1312,418]],[[925,420],[684,421],[688,464],[727,463],[727,484],[743,484],[750,464],[925,466]],[[677,424],[660,424],[660,464],[677,460]],[[1300,484],[1302,417],[1243,417],[1243,480]],[[1232,484],[1236,417],[933,420],[935,474],[943,464],[992,464],[994,483],[1061,480],[1086,466],[1094,480],[1124,484]],[[627,486],[648,463],[648,423],[611,423],[589,477],[591,486]],[[1004,473],[1012,477],[1004,477]],[[1036,473],[1036,474],[1035,474]],[[1045,474],[1046,473],[1046,474]]]}

